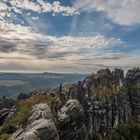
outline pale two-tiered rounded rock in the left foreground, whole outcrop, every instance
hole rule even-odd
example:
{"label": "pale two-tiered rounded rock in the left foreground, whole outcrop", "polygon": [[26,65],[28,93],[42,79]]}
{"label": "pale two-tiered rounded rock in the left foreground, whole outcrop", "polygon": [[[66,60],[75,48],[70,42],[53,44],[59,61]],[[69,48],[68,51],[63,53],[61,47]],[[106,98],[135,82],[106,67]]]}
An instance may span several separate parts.
{"label": "pale two-tiered rounded rock in the left foreground, whole outcrop", "polygon": [[49,106],[45,103],[35,105],[27,126],[14,133],[12,140],[59,140]]}

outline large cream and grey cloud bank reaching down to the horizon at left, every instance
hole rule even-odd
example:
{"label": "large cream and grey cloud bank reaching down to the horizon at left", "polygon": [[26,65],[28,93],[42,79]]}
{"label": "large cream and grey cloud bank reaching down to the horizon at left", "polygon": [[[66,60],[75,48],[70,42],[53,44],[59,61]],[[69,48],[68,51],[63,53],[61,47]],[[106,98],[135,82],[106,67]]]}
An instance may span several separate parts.
{"label": "large cream and grey cloud bank reaching down to the horizon at left", "polygon": [[[30,27],[0,22],[0,70],[92,71],[96,64],[114,64],[121,54],[106,49],[123,45],[120,39],[94,36],[49,36]],[[99,58],[102,56],[102,58]],[[87,62],[87,61],[88,62]],[[82,64],[76,64],[76,63]],[[85,64],[90,64],[85,66]],[[8,67],[9,65],[9,67]],[[39,65],[39,67],[38,67]],[[97,67],[98,68],[98,67]],[[12,69],[14,70],[14,69]]]}

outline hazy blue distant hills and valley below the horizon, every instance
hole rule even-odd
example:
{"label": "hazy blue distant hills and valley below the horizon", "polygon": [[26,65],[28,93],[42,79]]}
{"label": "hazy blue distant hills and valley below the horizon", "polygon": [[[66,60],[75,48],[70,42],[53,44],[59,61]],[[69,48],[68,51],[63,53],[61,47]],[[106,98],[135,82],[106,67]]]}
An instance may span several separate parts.
{"label": "hazy blue distant hills and valley below the horizon", "polygon": [[66,73],[0,73],[0,96],[15,96],[42,88],[53,88],[58,84],[82,80],[86,74]]}

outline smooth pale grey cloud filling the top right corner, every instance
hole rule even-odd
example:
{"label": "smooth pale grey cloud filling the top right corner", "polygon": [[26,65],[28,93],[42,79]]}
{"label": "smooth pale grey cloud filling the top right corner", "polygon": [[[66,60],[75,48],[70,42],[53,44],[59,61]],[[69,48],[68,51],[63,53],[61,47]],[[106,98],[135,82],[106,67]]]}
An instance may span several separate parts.
{"label": "smooth pale grey cloud filling the top right corner", "polygon": [[119,25],[140,24],[139,0],[76,0],[74,9],[79,12],[102,12]]}

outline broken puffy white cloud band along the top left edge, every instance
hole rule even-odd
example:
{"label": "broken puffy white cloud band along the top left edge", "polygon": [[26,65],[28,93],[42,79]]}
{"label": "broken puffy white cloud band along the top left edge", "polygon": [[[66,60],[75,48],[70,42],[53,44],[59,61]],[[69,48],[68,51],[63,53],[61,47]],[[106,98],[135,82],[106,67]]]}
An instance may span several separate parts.
{"label": "broken puffy white cloud band along the top left edge", "polygon": [[[7,5],[7,2],[9,2],[10,5]],[[61,14],[63,16],[72,16],[74,14],[79,14],[75,11],[74,7],[63,6],[59,1],[49,3],[43,0],[37,0],[37,2],[33,2],[30,0],[2,0],[0,1],[0,20],[5,20],[6,17],[10,17],[13,13],[15,15],[20,14],[21,16],[23,16],[23,10],[33,11],[38,14],[52,13],[52,15]]]}

